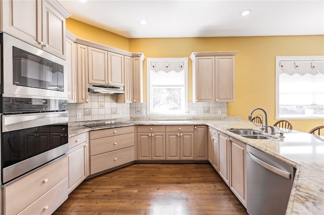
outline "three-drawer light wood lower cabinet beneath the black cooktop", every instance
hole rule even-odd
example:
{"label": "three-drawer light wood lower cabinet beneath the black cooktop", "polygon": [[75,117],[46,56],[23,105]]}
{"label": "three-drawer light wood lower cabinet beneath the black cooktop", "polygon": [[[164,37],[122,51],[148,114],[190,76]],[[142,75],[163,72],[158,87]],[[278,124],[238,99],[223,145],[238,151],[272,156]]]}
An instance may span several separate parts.
{"label": "three-drawer light wood lower cabinet beneath the black cooktop", "polygon": [[90,131],[90,175],[135,160],[134,126]]}

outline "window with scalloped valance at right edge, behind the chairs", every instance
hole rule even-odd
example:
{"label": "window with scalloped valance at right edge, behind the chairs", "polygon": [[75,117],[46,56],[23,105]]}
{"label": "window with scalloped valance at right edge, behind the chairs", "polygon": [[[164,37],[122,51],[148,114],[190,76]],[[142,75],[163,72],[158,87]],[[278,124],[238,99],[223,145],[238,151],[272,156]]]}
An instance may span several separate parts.
{"label": "window with scalloped valance at right edge, behind the chairs", "polygon": [[324,56],[276,57],[276,119],[324,118]]}

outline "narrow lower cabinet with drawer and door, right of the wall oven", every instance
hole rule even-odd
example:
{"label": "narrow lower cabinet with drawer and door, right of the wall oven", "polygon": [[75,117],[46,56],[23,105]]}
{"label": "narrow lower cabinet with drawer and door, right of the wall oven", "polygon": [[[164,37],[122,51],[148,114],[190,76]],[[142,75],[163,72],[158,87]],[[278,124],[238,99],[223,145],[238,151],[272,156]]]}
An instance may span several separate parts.
{"label": "narrow lower cabinet with drawer and door, right of the wall oven", "polygon": [[87,133],[69,138],[68,165],[70,194],[90,174]]}

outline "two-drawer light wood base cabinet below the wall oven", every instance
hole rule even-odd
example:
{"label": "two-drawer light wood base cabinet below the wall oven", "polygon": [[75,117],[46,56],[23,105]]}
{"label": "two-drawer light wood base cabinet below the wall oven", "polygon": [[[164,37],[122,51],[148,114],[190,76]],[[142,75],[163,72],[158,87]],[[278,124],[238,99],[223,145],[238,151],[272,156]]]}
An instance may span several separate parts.
{"label": "two-drawer light wood base cabinet below the wall oven", "polygon": [[2,189],[2,214],[52,214],[68,197],[65,156]]}

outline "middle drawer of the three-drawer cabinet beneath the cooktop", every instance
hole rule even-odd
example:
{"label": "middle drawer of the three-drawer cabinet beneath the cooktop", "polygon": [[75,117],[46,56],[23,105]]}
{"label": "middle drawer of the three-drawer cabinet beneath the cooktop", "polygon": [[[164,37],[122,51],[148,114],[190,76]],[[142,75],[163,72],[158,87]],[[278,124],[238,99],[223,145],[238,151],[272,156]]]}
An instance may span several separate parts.
{"label": "middle drawer of the three-drawer cabinet beneath the cooktop", "polygon": [[134,142],[134,133],[93,139],[90,141],[90,156],[134,146]]}

